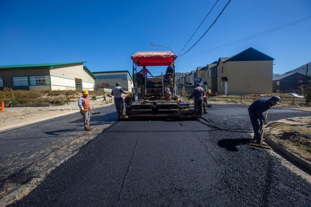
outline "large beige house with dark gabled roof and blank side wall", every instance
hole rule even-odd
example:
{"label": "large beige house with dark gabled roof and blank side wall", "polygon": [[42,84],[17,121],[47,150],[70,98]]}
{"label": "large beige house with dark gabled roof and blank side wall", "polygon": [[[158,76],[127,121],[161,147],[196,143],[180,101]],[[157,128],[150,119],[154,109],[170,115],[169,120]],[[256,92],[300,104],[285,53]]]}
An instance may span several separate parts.
{"label": "large beige house with dark gabled roof and blank side wall", "polygon": [[216,65],[218,93],[272,93],[273,60],[254,48],[231,57],[219,58]]}

